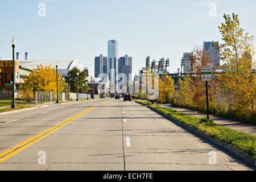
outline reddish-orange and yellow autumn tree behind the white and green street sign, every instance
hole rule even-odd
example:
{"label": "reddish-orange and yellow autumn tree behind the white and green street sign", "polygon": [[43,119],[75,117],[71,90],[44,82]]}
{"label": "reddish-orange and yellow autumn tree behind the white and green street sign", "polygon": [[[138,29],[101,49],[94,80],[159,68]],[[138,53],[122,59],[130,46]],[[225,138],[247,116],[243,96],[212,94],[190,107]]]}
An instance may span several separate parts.
{"label": "reddish-orange and yellow autumn tree behind the white and green street sign", "polygon": [[[217,69],[216,65],[210,64],[208,51],[203,51],[200,47],[196,47],[193,55],[189,56],[191,63],[191,71],[183,79],[179,79],[178,100],[179,105],[192,107],[194,109],[204,110],[206,105],[205,81],[201,80],[201,69],[212,68],[214,73]],[[214,107],[217,98],[218,82],[213,78],[208,81],[209,106]]]}

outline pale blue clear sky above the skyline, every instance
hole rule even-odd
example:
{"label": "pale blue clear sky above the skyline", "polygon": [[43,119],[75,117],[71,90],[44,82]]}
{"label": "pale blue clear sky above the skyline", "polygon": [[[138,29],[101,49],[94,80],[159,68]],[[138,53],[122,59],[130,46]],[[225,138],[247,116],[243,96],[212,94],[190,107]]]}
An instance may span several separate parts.
{"label": "pale blue clear sky above the skyline", "polygon": [[24,52],[34,60],[79,59],[94,76],[94,57],[108,56],[114,39],[119,57],[133,57],[133,75],[147,56],[169,58],[168,71],[175,73],[183,52],[203,47],[204,40],[222,43],[224,13],[238,14],[245,32],[256,34],[255,1],[1,0],[0,57],[12,59],[14,37],[20,59]]}

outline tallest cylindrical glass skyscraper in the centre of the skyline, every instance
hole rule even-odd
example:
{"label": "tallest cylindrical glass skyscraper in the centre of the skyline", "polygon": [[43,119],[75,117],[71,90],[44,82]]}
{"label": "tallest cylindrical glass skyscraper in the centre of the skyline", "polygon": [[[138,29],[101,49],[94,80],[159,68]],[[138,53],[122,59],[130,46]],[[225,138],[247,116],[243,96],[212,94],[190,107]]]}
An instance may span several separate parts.
{"label": "tallest cylindrical glass skyscraper in the centre of the skyline", "polygon": [[[112,72],[112,70],[114,72]],[[118,42],[117,40],[108,41],[108,76],[109,80],[116,83],[115,77],[118,73]]]}

